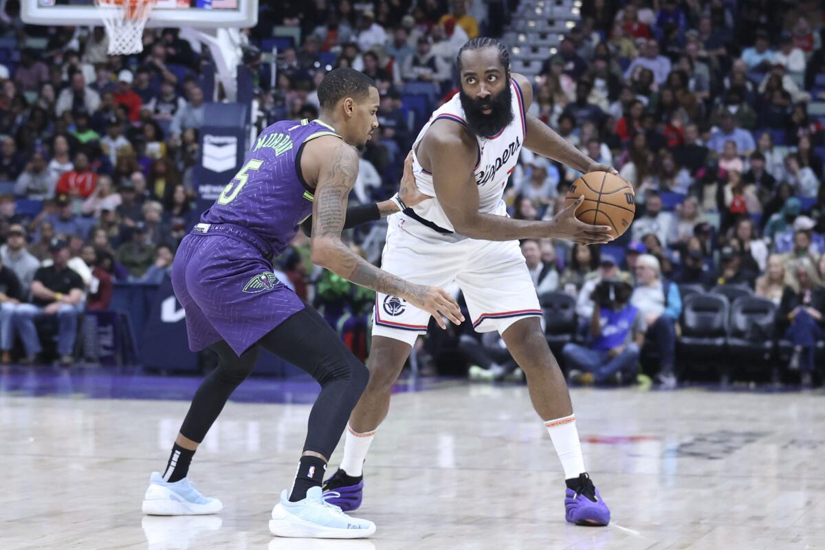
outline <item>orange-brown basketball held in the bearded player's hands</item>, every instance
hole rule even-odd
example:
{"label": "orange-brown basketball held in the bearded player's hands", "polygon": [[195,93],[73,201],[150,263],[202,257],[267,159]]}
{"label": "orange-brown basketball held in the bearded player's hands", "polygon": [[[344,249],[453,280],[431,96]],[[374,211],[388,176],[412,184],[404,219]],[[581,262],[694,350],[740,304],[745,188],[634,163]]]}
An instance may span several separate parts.
{"label": "orange-brown basketball held in the bearded player's hands", "polygon": [[636,214],[636,194],[633,186],[610,172],[590,172],[573,181],[564,197],[564,206],[573,204],[579,196],[584,202],[576,210],[576,218],[592,225],[609,225],[613,238],[620,237],[630,227]]}

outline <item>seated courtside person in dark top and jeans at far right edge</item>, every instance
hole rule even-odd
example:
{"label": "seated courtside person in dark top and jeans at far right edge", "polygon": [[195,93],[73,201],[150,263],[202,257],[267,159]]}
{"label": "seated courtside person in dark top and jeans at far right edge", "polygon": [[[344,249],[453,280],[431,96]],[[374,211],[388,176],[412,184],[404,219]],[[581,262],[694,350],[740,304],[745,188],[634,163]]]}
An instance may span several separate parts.
{"label": "seated courtside person in dark top and jeans at far right edge", "polygon": [[788,368],[800,370],[803,387],[810,387],[817,341],[823,339],[825,288],[808,258],[795,260],[789,267],[790,280],[782,293],[776,320],[780,334],[794,346]]}

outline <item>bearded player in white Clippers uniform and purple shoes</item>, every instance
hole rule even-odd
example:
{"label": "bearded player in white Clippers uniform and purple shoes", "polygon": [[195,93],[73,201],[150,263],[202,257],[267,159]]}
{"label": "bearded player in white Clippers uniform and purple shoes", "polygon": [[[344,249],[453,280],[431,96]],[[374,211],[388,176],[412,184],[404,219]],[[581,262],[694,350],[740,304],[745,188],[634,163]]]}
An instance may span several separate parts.
{"label": "bearded player in white Clippers uniform and purple shoes", "polygon": [[[549,431],[567,483],[566,519],[606,525],[610,510],[582,458],[567,384],[540,324],[541,308],[518,239],[554,237],[580,244],[609,242],[610,228],[573,215],[573,204],[549,221],[511,219],[502,200],[522,147],[577,169],[610,171],[561,138],[527,109],[530,82],[509,70],[497,40],[470,40],[460,50],[460,93],[432,115],[413,145],[413,172],[425,200],[389,217],[382,269],[420,284],[455,280],[476,331],[498,331],[524,370],[530,399]],[[392,384],[429,313],[378,293],[367,366],[370,382],[350,416],[341,468],[325,482],[325,498],[343,510],[361,505],[362,465],[389,410]]]}

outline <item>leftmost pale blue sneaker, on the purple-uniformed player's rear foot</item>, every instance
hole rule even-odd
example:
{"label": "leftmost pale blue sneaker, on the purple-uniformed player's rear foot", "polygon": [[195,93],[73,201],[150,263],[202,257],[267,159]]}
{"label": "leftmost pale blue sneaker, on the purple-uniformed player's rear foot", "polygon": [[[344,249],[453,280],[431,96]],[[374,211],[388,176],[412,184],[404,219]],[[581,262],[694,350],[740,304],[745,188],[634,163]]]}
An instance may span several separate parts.
{"label": "leftmost pale blue sneaker, on the purple-uniformed player's rear foot", "polygon": [[144,495],[144,514],[147,515],[204,515],[217,514],[224,505],[216,498],[201,495],[189,477],[170,483],[160,472],[152,472]]}

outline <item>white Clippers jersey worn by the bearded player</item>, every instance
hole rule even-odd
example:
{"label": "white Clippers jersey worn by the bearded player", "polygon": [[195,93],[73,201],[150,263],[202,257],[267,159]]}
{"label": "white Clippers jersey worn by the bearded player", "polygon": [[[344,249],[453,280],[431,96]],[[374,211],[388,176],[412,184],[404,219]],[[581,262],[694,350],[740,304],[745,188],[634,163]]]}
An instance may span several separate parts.
{"label": "white Clippers jersey worn by the bearded player", "polygon": [[[511,78],[510,82],[513,120],[494,136],[476,138],[479,143],[479,161],[473,172],[476,185],[479,186],[479,212],[499,216],[507,215],[507,205],[503,200],[504,187],[507,186],[507,178],[516,169],[516,162],[518,162],[521,146],[524,144],[527,128],[524,96],[516,81]],[[430,196],[436,196],[436,190],[432,185],[432,174],[422,168],[415,150],[427,134],[430,125],[440,119],[453,120],[457,124],[467,125],[458,93],[432,114],[413,143],[413,174],[416,185],[422,193]],[[428,239],[436,238],[446,241],[461,238],[453,233],[453,226],[437,199],[425,200],[413,209],[405,210],[404,214],[405,217],[410,218],[408,223],[403,224],[404,229],[409,233]]]}

